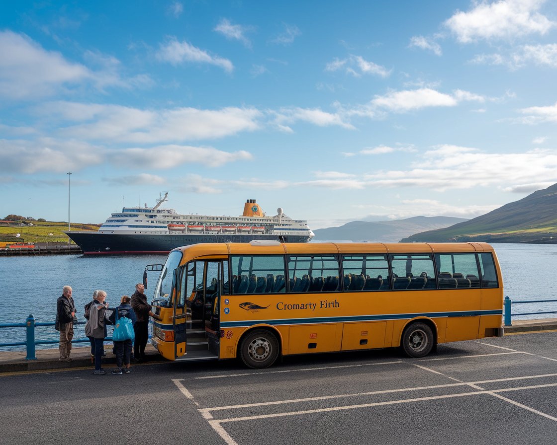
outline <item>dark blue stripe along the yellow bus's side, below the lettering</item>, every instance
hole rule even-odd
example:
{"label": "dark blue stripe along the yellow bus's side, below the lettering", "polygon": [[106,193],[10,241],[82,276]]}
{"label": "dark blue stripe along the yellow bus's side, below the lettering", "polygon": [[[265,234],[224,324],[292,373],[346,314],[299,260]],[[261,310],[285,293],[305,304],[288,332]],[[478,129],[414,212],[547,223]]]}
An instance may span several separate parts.
{"label": "dark blue stripe along the yellow bus's side, below the lettering", "polygon": [[348,317],[315,317],[315,318],[285,318],[277,320],[242,320],[239,322],[221,322],[221,328],[248,327],[254,324],[316,324],[316,323],[339,323],[339,322],[375,322],[379,320],[400,320],[414,317],[477,317],[478,315],[502,315],[502,309],[494,310],[465,310],[453,312],[432,312],[419,314],[381,314],[381,315],[353,315]]}

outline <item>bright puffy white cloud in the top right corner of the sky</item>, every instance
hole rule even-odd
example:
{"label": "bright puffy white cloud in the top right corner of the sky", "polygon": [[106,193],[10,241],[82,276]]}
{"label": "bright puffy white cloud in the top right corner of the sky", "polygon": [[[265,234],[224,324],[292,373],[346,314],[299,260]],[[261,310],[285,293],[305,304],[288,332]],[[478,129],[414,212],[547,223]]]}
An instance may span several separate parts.
{"label": "bright puffy white cloud in the top right corner of the sky", "polygon": [[514,39],[545,34],[555,22],[538,11],[545,0],[500,0],[473,3],[470,11],[457,11],[444,22],[461,43],[479,39]]}

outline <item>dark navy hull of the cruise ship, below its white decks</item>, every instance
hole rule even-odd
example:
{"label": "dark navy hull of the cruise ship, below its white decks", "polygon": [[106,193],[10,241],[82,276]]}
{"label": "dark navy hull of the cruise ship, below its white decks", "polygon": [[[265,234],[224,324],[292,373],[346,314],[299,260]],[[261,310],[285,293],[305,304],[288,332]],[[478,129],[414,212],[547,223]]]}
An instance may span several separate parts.
{"label": "dark navy hull of the cruise ship, below its white decks", "polygon": [[69,231],[67,235],[85,255],[167,254],[180,246],[197,243],[249,243],[272,240],[281,243],[307,243],[307,235],[268,234],[106,234]]}

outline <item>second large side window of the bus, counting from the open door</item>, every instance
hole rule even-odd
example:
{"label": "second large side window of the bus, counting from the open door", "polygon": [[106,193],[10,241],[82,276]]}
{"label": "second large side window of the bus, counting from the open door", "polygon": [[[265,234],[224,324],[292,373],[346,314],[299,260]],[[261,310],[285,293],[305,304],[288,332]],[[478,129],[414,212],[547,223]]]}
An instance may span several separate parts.
{"label": "second large side window of the bus, counting from the open door", "polygon": [[339,261],[335,255],[290,255],[290,293],[340,290]]}

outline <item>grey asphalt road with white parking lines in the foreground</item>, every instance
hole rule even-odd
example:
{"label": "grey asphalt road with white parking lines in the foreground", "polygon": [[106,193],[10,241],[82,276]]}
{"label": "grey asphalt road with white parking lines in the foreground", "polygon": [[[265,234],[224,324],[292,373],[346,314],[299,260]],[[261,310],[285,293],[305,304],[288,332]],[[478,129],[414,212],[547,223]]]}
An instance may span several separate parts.
{"label": "grey asphalt road with white parking lines in the foreground", "polygon": [[[397,350],[0,377],[0,443],[553,444],[557,332]],[[108,370],[108,369],[107,369]]]}

